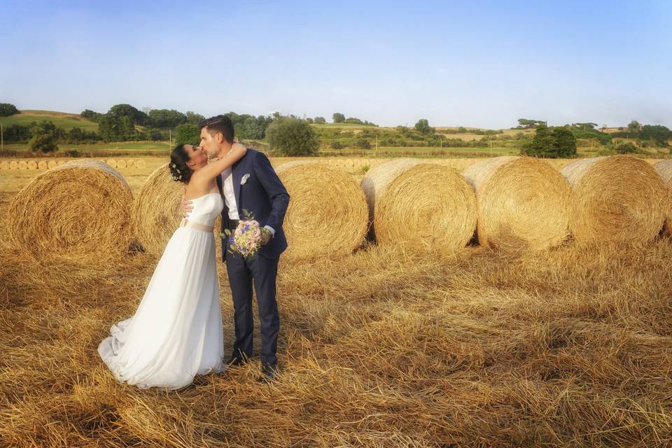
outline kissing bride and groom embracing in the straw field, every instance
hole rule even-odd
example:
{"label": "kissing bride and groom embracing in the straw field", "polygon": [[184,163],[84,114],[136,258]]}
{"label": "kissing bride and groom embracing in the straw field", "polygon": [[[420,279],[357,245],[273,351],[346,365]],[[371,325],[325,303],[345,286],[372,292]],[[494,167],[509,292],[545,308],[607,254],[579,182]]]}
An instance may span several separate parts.
{"label": "kissing bride and groom embracing in the straw field", "polygon": [[[278,372],[276,276],[280,254],[287,248],[282,222],[289,195],[263,153],[234,143],[230,118],[209,118],[200,128],[198,146],[178,145],[170,156],[173,179],[186,184],[182,223],[135,314],[113,325],[98,347],[116,379],[139,388],[182,388],[197,374],[248,362],[253,286],[261,326],[259,379],[272,381]],[[222,239],[235,321],[233,352],[225,362],[214,223],[221,214],[222,230],[233,231],[243,210],[251,211],[266,230],[253,257],[229,251],[228,239]]]}

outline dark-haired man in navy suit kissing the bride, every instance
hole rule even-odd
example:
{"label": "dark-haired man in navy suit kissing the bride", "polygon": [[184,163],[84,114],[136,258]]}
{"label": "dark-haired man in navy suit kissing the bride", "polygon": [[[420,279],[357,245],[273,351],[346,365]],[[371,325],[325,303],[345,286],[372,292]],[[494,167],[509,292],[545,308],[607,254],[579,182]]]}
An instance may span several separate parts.
{"label": "dark-haired man in navy suit kissing the bride", "polygon": [[[234,129],[231,119],[218,115],[200,123],[200,146],[209,157],[223,157],[233,144]],[[246,219],[244,210],[267,228],[262,248],[252,260],[239,253],[228,252],[228,241],[222,239],[222,258],[226,262],[233,296],[236,340],[230,365],[241,365],[252,356],[252,286],[257,294],[261,325],[260,380],[274,379],[277,372],[277,342],[280,329],[278,304],[275,299],[276,276],[280,254],[287,248],[282,221],[289,204],[289,195],[268,158],[253,149],[217,179],[224,195],[222,232],[235,230],[238,221]],[[191,201],[182,200],[183,214],[192,210]]]}

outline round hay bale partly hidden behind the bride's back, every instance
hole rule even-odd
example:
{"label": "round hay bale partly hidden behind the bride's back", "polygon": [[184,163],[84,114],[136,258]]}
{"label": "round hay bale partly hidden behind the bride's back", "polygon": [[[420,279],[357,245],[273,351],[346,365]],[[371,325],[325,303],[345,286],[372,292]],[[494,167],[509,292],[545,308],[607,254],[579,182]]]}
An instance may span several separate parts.
{"label": "round hay bale partly hidden behind the bride's back", "polygon": [[183,183],[172,179],[165,163],[155,169],[138,190],[131,218],[135,235],[148,253],[161,255],[179,227],[184,187]]}

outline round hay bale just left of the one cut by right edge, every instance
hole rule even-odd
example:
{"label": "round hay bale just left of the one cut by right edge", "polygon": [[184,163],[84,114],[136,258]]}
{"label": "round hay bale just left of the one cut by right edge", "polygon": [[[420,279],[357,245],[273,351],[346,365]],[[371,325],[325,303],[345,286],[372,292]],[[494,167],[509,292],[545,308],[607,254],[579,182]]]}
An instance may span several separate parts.
{"label": "round hay bale just left of the one cut by right edge", "polygon": [[656,170],[629,155],[577,160],[562,175],[572,186],[570,228],[580,244],[643,244],[664,225],[666,191]]}

